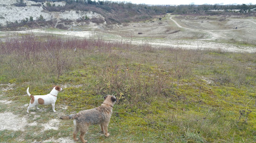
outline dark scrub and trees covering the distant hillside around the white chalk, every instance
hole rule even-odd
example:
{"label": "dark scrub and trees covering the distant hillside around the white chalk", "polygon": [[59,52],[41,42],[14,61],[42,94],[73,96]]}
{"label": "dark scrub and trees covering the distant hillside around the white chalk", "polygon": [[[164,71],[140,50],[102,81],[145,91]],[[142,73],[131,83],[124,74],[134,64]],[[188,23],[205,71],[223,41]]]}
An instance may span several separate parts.
{"label": "dark scrub and trees covering the distant hillside around the white chalk", "polygon": [[[241,15],[241,16],[255,16],[256,5],[180,5],[180,6],[148,6],[148,5],[136,5],[126,2],[111,2],[111,1],[83,1],[83,0],[66,0],[65,6],[56,6],[52,2],[60,1],[45,1],[45,0],[30,0],[34,2],[40,2],[41,4],[33,4],[32,6],[43,6],[49,12],[52,11],[92,11],[101,14],[104,17],[103,19],[75,19],[75,22],[89,23],[96,22],[101,24],[106,22],[106,24],[121,24],[127,22],[138,22],[143,20],[150,20],[156,15],[164,15],[166,13],[172,14],[181,14],[181,15]],[[46,4],[46,7],[43,4]],[[24,1],[18,0],[15,6],[26,6]],[[24,17],[25,18],[25,17]],[[82,17],[81,17],[82,18]],[[159,18],[160,20],[161,18]],[[35,19],[34,19],[35,20]],[[54,23],[56,19],[49,20],[50,23]],[[26,23],[24,21],[18,21],[19,24],[15,24],[14,21],[7,21],[8,24],[5,30],[16,30],[21,26],[24,26]],[[20,23],[21,22],[21,23]],[[64,22],[65,21],[61,21]],[[155,21],[152,21],[155,22]],[[83,24],[84,24],[83,23]],[[70,23],[67,23],[70,24]],[[49,26],[50,24],[45,24],[45,20],[39,20],[37,22],[31,22],[26,24],[27,27],[41,27],[43,25]],[[62,25],[62,26],[60,26]],[[63,24],[58,25],[63,29],[66,29],[67,26]],[[55,24],[50,25],[56,27]],[[20,28],[23,29],[23,28]]]}

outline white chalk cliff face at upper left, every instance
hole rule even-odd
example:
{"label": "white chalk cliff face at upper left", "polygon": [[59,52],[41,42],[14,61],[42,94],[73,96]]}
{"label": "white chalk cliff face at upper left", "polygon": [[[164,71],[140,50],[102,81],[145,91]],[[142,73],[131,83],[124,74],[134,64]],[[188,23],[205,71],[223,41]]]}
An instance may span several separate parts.
{"label": "white chalk cliff face at upper left", "polygon": [[[17,3],[16,0],[1,0],[0,3],[0,24],[2,26],[7,25],[7,22],[22,22],[23,19],[30,19],[30,16],[33,17],[33,20],[39,18],[40,15],[49,20],[78,20],[82,17],[88,18],[100,18],[104,20],[104,17],[98,13],[91,12],[91,11],[63,11],[63,12],[48,12],[47,10],[42,7],[42,3],[39,2],[32,2],[32,1],[24,1],[26,3],[26,7],[16,7],[14,4]],[[55,6],[65,6],[65,2],[50,2],[51,5],[55,4]],[[40,4],[41,6],[32,6]],[[44,3],[46,6],[46,3]]]}

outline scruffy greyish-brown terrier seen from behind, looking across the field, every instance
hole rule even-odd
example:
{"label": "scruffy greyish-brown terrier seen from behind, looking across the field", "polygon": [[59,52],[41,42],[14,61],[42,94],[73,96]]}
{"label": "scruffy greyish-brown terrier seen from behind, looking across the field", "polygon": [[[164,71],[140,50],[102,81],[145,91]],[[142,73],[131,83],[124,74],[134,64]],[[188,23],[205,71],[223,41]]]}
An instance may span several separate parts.
{"label": "scruffy greyish-brown terrier seen from behind, looking across the field", "polygon": [[104,99],[104,102],[99,107],[82,110],[72,115],[60,117],[62,120],[74,119],[75,131],[73,133],[73,137],[75,141],[78,140],[78,138],[76,138],[76,134],[78,131],[80,131],[81,141],[83,143],[87,142],[87,140],[84,140],[84,134],[90,125],[99,124],[104,135],[106,137],[110,135],[108,133],[108,126],[110,123],[113,106],[116,103],[116,97],[113,95],[107,95],[104,96]]}

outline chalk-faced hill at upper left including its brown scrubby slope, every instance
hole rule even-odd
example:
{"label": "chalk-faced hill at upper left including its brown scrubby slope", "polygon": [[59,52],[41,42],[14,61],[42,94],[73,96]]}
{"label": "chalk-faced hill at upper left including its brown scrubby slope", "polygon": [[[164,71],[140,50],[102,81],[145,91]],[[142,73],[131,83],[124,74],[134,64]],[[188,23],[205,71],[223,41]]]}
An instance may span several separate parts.
{"label": "chalk-faced hill at upper left including its brown scrubby slope", "polygon": [[[16,1],[0,4],[0,27],[23,30],[26,27],[57,27],[67,29],[71,24],[121,24],[151,19],[166,14],[160,7],[131,3],[92,1]],[[25,27],[22,27],[24,26]],[[11,30],[11,29],[9,29]]]}

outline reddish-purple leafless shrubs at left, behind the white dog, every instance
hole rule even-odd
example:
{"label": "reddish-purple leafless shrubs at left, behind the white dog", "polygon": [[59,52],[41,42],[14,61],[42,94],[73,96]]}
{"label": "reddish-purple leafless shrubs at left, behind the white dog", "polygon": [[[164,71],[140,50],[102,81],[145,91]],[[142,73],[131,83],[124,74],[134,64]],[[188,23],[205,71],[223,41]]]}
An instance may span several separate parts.
{"label": "reddish-purple leafless shrubs at left, behind the white dog", "polygon": [[[109,50],[120,46],[119,42],[106,42],[102,39],[60,39],[55,36],[36,37],[34,34],[12,35],[0,41],[0,53],[13,56],[13,68],[37,68],[38,74],[44,71],[59,76],[73,66],[75,54],[79,50]],[[121,46],[120,46],[121,47]],[[23,65],[24,63],[28,65]],[[18,66],[16,64],[19,64]],[[32,66],[32,67],[31,67]],[[17,74],[20,74],[17,70]],[[41,71],[39,70],[41,69]],[[29,72],[26,72],[29,75]],[[18,76],[18,75],[17,75]]]}

